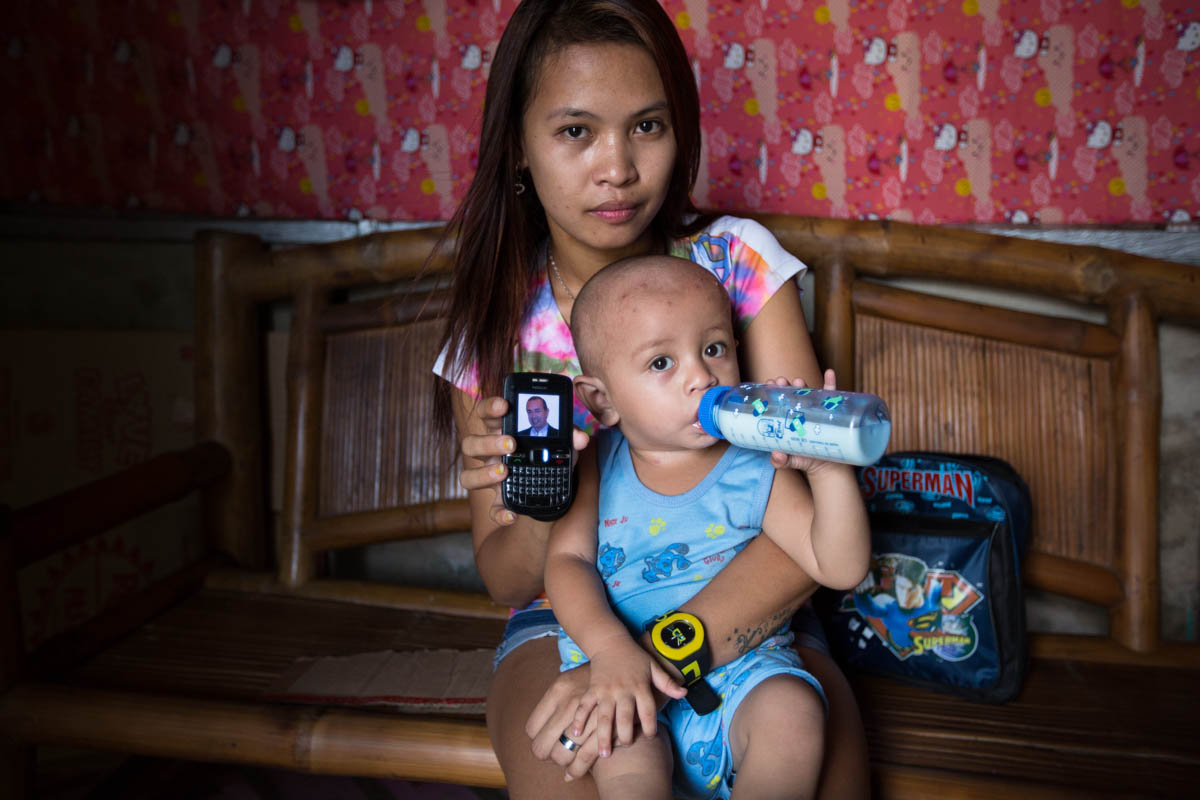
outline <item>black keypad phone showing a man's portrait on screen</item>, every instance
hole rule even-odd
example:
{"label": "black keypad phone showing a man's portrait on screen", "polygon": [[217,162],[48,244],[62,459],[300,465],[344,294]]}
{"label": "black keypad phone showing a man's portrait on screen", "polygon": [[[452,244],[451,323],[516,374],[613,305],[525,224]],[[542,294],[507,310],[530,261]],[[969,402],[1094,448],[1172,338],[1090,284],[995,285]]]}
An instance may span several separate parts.
{"label": "black keypad phone showing a man's portrait on screen", "polygon": [[504,505],[534,519],[558,519],[575,499],[571,379],[511,372],[504,377],[504,399],[503,431],[517,443],[503,459],[509,468],[500,483]]}

